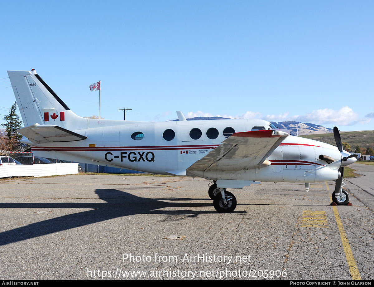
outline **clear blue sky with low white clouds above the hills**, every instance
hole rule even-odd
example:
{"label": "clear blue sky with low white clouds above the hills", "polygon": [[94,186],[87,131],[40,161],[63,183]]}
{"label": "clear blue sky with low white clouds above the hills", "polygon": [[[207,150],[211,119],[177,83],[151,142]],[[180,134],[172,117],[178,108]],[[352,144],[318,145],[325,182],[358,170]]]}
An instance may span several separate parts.
{"label": "clear blue sky with low white clouds above the hills", "polygon": [[[79,116],[226,116],[374,129],[373,1],[2,1],[7,70],[35,68]],[[1,118],[3,116],[0,116]],[[4,123],[4,120],[0,120]]]}

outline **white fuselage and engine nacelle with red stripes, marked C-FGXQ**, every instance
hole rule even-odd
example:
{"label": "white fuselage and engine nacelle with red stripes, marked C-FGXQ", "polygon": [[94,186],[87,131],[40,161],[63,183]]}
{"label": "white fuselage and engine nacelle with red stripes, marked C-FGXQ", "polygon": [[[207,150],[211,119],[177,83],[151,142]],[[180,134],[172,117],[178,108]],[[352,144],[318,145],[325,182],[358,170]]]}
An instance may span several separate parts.
{"label": "white fuselage and engine nacelle with red stripes, marked C-FGXQ", "polygon": [[[102,121],[105,122],[105,120]],[[129,123],[76,130],[75,132],[86,135],[87,139],[67,143],[40,144],[33,147],[33,152],[48,158],[157,174],[186,175],[186,169],[219,146],[230,135],[230,131],[270,129],[269,125],[269,122],[257,119]],[[197,129],[201,131],[201,135]],[[212,132],[211,129],[215,131]],[[169,131],[169,137],[165,139],[164,134],[167,130],[172,132]],[[195,132],[192,136],[199,138],[191,138],[192,130]],[[170,133],[173,135],[173,132],[174,137],[171,138]],[[327,164],[318,158],[321,154],[328,154],[336,161]],[[209,179],[270,182],[335,180],[338,178],[337,170],[340,167],[341,158],[341,153],[335,146],[289,135],[269,156],[268,160],[271,165],[267,167],[220,173],[204,172],[196,175]]]}

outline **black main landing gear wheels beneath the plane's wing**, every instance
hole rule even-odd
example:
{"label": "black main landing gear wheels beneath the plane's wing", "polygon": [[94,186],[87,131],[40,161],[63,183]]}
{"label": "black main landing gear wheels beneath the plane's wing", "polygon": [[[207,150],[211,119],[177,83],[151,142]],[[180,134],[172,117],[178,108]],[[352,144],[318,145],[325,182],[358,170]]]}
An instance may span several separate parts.
{"label": "black main landing gear wheels beneath the plane's wing", "polygon": [[213,199],[213,206],[218,213],[231,213],[236,208],[235,196],[226,190],[218,188],[214,182],[208,190],[209,197]]}

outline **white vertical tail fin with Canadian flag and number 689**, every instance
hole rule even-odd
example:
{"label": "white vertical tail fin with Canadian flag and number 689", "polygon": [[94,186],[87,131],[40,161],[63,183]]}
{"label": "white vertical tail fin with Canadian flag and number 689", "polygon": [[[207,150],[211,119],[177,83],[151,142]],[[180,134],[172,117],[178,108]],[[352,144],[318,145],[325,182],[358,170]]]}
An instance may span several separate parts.
{"label": "white vertical tail fin with Canadian flag and number 689", "polygon": [[33,69],[8,71],[25,126],[56,125],[68,130],[88,128],[88,119],[77,116]]}

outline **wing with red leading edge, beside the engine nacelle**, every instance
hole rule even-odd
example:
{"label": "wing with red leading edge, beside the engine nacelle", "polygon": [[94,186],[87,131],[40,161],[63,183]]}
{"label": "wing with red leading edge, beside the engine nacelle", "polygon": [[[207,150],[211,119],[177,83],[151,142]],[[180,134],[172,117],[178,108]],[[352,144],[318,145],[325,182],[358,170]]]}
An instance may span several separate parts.
{"label": "wing with red leading edge, beside the engine nacelle", "polygon": [[271,129],[237,132],[187,168],[187,175],[195,176],[193,171],[238,171],[270,165],[267,157],[288,135]]}

